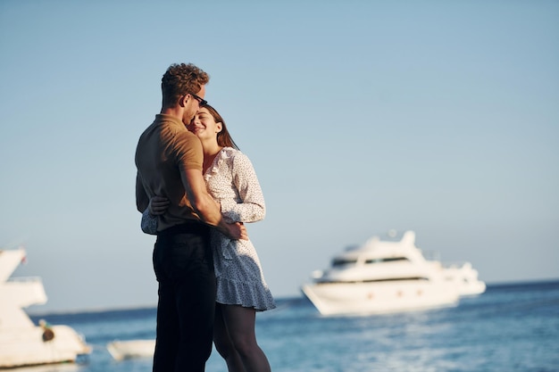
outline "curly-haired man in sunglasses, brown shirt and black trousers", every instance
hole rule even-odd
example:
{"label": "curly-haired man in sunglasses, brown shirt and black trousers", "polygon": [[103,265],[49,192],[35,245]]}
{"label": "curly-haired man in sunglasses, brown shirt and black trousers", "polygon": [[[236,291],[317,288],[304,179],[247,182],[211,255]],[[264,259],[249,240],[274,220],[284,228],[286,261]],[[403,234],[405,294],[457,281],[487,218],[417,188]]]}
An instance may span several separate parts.
{"label": "curly-haired man in sunglasses, brown shirt and black trousers", "polygon": [[198,138],[186,124],[204,104],[209,76],[192,63],[172,64],[162,79],[161,113],[140,136],[136,149],[136,203],[169,199],[158,216],[154,271],[159,282],[154,372],[204,371],[212,351],[215,276],[209,229],[246,239],[241,224],[221,219],[207,193]]}

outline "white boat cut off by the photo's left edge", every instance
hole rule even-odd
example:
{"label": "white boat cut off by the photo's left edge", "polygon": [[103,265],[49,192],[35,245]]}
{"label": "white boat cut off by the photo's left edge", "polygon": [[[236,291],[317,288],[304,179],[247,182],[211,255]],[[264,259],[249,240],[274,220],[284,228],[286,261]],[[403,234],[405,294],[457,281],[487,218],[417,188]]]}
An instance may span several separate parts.
{"label": "white boat cut off by the photo's left edge", "polygon": [[10,278],[25,250],[0,250],[0,369],[75,362],[91,348],[68,326],[35,325],[23,308],[46,303],[39,277]]}

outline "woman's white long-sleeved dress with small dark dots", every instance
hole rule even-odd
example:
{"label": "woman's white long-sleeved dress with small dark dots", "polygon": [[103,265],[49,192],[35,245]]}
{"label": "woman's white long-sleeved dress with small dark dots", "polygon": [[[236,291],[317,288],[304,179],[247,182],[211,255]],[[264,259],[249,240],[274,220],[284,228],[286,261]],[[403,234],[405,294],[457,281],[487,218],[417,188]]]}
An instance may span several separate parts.
{"label": "woman's white long-sleeved dress with small dark dots", "polygon": [[[206,169],[209,193],[221,204],[228,222],[256,222],[265,216],[262,189],[248,157],[225,147]],[[241,305],[257,311],[276,307],[264,280],[263,269],[249,240],[230,240],[213,229],[213,265],[217,280],[216,302]]]}

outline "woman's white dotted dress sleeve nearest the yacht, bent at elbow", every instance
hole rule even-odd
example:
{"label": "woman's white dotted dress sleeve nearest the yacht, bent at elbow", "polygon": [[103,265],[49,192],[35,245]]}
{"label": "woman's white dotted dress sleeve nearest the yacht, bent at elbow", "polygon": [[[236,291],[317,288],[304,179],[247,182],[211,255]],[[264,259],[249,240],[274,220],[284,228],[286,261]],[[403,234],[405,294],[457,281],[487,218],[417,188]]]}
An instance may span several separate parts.
{"label": "woman's white dotted dress sleeve nearest the yacht, bent at elbow", "polygon": [[244,153],[237,153],[232,161],[233,186],[237,188],[241,202],[222,201],[221,214],[237,222],[256,222],[264,219],[264,196],[252,162]]}

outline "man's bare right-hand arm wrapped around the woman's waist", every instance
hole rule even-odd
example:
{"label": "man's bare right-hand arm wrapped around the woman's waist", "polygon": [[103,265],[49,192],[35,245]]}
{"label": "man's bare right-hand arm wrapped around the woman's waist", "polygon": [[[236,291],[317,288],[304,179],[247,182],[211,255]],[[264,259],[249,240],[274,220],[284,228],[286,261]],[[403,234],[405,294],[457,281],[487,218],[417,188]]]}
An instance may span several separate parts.
{"label": "man's bare right-hand arm wrapped around the woman's waist", "polygon": [[244,225],[239,223],[228,224],[221,217],[220,206],[208,194],[201,170],[185,169],[180,174],[182,183],[187,191],[188,200],[200,219],[208,225],[217,227],[231,239],[247,239],[246,227]]}

